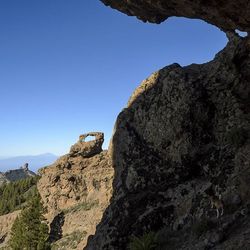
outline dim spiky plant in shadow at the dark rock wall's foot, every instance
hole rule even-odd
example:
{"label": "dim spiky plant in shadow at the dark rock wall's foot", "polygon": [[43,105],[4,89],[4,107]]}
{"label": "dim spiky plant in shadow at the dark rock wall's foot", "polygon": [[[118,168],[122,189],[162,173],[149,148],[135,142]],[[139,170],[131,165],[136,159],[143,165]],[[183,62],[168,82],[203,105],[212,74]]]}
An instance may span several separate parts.
{"label": "dim spiky plant in shadow at the dark rock wall's foot", "polygon": [[144,233],[141,237],[132,237],[130,250],[155,250],[158,245],[157,234],[154,232]]}

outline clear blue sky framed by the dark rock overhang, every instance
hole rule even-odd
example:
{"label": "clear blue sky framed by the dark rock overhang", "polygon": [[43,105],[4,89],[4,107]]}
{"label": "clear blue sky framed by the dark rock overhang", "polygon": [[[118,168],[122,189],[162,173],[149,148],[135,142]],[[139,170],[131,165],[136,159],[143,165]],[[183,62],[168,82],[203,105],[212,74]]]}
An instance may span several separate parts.
{"label": "clear blue sky framed by the dark rock overhang", "polygon": [[105,147],[133,90],[227,42],[203,21],[145,24],[99,0],[0,1],[0,157],[64,154],[88,131]]}

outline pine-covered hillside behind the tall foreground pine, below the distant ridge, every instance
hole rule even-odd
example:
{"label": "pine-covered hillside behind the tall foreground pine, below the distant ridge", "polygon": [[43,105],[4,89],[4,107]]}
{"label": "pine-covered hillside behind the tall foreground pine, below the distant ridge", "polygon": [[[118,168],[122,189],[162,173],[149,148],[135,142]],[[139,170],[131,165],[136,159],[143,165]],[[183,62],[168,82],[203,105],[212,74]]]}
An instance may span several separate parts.
{"label": "pine-covered hillside behind the tall foreground pine, below the distant ridge", "polygon": [[35,196],[35,186],[39,177],[29,177],[0,187],[0,215],[21,209]]}

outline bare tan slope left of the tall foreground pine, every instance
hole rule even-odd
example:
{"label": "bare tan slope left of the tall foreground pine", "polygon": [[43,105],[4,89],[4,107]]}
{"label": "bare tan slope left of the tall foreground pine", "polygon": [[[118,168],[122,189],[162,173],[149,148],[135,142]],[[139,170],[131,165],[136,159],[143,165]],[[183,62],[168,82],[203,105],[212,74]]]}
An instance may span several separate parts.
{"label": "bare tan slope left of the tall foreground pine", "polygon": [[7,247],[11,227],[21,210],[0,216],[0,249]]}

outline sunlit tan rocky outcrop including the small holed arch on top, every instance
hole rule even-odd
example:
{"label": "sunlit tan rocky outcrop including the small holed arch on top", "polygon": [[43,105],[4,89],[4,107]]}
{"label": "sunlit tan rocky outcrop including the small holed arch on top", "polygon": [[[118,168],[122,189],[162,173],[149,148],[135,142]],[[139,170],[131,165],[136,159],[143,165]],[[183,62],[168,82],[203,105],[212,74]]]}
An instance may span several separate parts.
{"label": "sunlit tan rocky outcrop including the small holed arch on top", "polygon": [[82,249],[109,204],[113,168],[108,152],[101,148],[104,135],[88,133],[80,139],[89,135],[95,140],[79,141],[69,154],[39,171],[38,190],[55,249]]}

